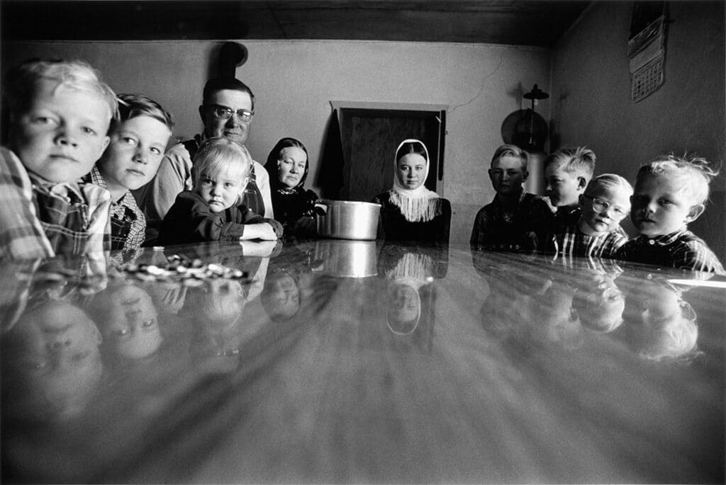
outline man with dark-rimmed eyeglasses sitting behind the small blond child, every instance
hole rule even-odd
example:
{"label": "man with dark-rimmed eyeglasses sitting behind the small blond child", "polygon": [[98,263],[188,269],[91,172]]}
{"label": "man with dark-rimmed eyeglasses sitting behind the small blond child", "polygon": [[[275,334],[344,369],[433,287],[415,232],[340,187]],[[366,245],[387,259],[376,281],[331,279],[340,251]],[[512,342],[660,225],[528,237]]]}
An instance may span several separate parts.
{"label": "man with dark-rimmed eyeglasses sitting behind the small blond child", "polygon": [[[152,245],[161,222],[181,191],[192,189],[192,160],[208,138],[223,136],[245,144],[254,115],[252,90],[235,78],[212,78],[204,86],[199,115],[204,131],[191,140],[172,146],[159,165],[155,178],[137,199],[142,199],[147,217],[145,245]],[[270,197],[269,175],[263,165],[253,160],[250,181],[242,203],[258,215],[274,218]]]}

